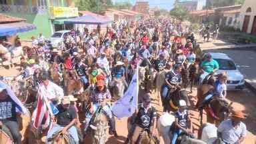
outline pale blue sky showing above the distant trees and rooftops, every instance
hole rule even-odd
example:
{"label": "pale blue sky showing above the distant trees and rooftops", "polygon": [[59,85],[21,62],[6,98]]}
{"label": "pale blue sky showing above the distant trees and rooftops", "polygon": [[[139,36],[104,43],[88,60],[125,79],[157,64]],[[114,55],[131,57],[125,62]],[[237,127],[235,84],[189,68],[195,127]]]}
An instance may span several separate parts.
{"label": "pale blue sky showing above the distant trees and rooftops", "polygon": [[[136,0],[112,0],[114,3],[115,2],[122,2],[122,1],[129,1],[133,5],[135,4]],[[149,6],[150,7],[160,7],[162,9],[167,9],[170,10],[173,8],[173,3],[175,0],[145,0],[149,1]],[[205,1],[205,0],[203,0]]]}

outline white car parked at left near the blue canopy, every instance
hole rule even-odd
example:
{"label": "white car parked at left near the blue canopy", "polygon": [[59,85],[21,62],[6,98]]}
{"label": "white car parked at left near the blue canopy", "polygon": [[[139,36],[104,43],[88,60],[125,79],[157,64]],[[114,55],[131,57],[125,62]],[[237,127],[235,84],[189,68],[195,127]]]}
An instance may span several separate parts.
{"label": "white car parked at left near the blue canopy", "polygon": [[51,45],[51,47],[59,47],[64,41],[64,36],[69,35],[70,32],[71,31],[69,30],[55,31],[55,33],[53,33],[49,39],[45,40],[45,42],[47,45]]}

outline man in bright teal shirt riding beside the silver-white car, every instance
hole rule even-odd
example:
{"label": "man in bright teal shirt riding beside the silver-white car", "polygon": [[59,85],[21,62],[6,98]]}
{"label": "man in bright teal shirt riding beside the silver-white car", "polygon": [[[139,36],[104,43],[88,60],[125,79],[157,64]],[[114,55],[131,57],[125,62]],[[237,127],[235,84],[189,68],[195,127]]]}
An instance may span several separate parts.
{"label": "man in bright teal shirt riding beside the silver-white car", "polygon": [[199,83],[203,82],[203,79],[210,73],[215,73],[219,69],[219,63],[212,59],[210,53],[204,55],[204,60],[201,62],[200,68],[203,73],[200,75]]}

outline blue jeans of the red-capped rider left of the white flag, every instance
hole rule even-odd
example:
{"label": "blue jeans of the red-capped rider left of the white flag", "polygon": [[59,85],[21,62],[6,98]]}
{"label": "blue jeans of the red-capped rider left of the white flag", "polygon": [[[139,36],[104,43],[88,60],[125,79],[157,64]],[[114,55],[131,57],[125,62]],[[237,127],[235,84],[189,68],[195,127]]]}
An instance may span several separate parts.
{"label": "blue jeans of the red-capped rider left of the white flag", "polygon": [[[100,106],[99,103],[94,103],[93,104],[93,111],[97,111],[98,107]],[[105,105],[103,108],[103,111],[106,113],[107,117],[110,119],[112,118],[112,109],[110,105]],[[91,117],[93,117],[93,113],[86,113],[85,115],[85,131],[87,131],[89,127],[89,122],[91,120]]]}

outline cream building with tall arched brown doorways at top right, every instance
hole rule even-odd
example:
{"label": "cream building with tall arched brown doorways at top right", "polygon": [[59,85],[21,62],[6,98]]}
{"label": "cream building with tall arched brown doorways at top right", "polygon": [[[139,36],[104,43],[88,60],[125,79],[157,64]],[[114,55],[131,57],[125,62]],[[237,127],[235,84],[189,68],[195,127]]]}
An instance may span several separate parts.
{"label": "cream building with tall arched brown doorways at top right", "polygon": [[241,7],[240,29],[245,33],[256,35],[256,5],[255,0],[245,0]]}

